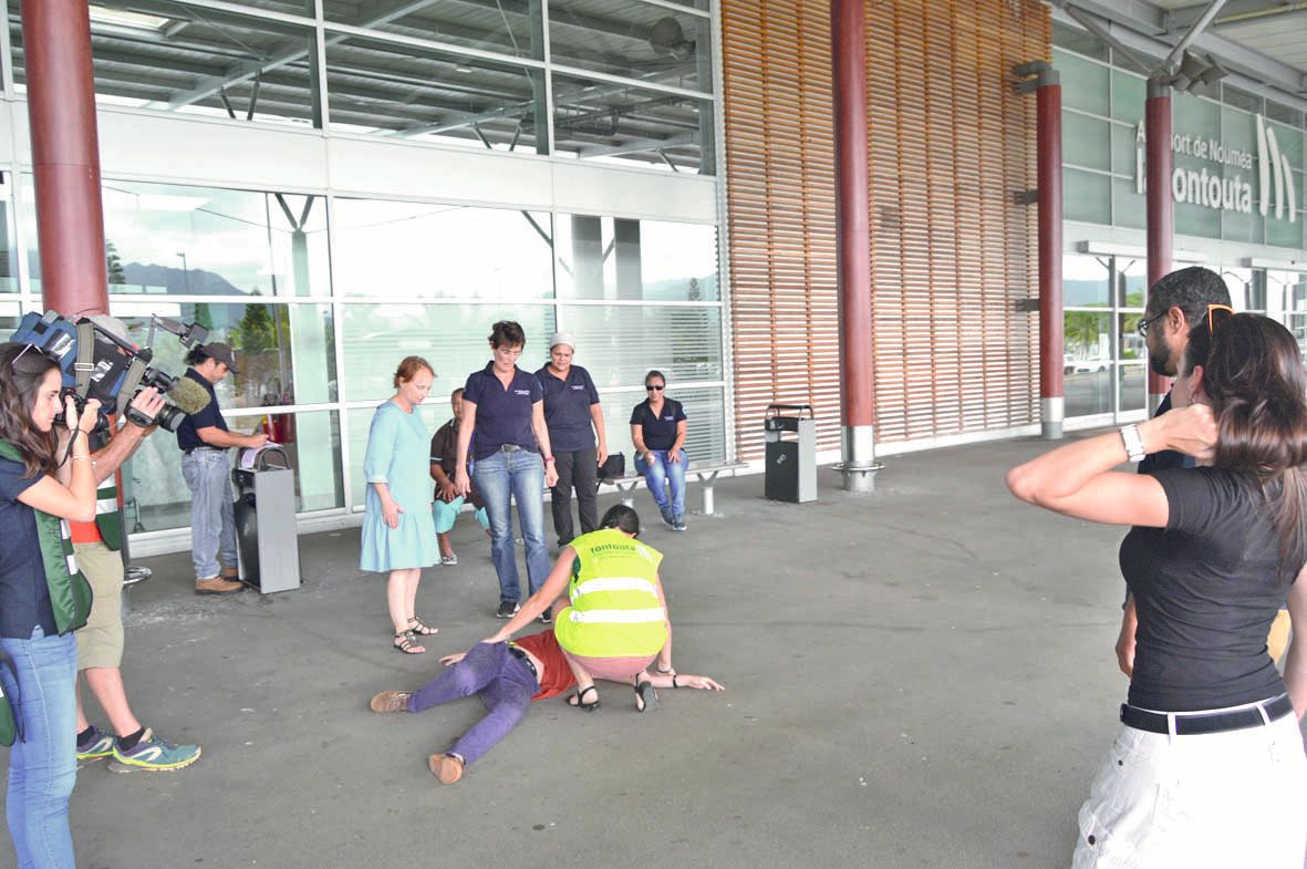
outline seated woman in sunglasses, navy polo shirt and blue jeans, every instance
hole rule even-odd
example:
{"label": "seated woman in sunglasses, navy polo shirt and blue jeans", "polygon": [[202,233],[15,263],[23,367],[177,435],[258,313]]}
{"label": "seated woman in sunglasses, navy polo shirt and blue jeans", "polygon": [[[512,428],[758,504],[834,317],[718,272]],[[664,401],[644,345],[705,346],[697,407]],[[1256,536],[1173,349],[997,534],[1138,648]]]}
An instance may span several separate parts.
{"label": "seated woman in sunglasses, navy polo shirt and blue jeans", "polygon": [[[685,455],[685,409],[664,395],[667,378],[661,371],[644,375],[644,391],[650,397],[631,410],[631,443],[663,521],[672,531],[685,531],[685,470],[690,464]],[[672,484],[670,500],[664,490],[667,481]]]}

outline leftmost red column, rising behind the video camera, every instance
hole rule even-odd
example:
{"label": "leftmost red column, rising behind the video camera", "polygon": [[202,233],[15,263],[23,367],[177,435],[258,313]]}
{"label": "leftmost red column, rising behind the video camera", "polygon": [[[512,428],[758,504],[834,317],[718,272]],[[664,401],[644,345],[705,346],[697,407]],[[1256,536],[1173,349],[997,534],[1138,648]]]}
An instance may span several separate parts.
{"label": "leftmost red column, rising behind the video camera", "polygon": [[64,316],[107,314],[86,0],[22,0],[22,43],[42,297]]}

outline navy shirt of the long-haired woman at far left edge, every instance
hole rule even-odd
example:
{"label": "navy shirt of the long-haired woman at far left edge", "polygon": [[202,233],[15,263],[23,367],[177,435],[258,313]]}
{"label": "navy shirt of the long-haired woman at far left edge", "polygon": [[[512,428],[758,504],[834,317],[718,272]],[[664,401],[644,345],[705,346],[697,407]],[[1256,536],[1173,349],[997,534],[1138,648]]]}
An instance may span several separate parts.
{"label": "navy shirt of the long-haired woman at far left edge", "polygon": [[37,536],[37,512],[18,495],[41,481],[41,474],[24,477],[21,461],[0,459],[0,636],[31,639],[41,625],[46,636],[59,632],[50,605],[46,566]]}

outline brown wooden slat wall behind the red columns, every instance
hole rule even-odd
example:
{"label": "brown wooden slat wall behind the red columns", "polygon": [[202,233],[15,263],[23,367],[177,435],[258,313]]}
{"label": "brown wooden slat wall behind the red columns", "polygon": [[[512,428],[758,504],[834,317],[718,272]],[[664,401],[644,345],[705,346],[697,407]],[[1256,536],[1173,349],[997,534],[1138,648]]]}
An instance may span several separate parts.
{"label": "brown wooden slat wall behind the red columns", "polygon": [[[1036,0],[868,4],[876,436],[1038,421],[1033,97]],[[839,447],[829,0],[721,0],[736,446],[771,401],[806,401]]]}

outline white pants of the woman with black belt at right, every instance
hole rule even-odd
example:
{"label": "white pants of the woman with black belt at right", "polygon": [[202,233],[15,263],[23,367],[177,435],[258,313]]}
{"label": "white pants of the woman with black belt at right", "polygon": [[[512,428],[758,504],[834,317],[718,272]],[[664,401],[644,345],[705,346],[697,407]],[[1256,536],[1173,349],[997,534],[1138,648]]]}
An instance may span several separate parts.
{"label": "white pants of the woman with black belt at right", "polygon": [[1307,757],[1293,713],[1167,736],[1123,728],[1080,809],[1072,869],[1303,869]]}

